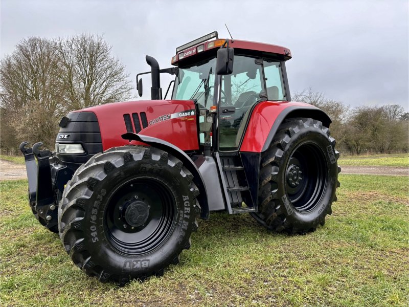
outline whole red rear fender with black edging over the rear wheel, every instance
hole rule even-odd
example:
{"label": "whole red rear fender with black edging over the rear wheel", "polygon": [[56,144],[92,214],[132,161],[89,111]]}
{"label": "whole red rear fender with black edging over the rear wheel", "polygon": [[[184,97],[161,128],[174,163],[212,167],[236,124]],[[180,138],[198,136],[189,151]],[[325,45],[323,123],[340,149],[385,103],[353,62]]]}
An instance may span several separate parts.
{"label": "whole red rear fender with black edging over the rear wheel", "polygon": [[324,111],[308,103],[263,101],[253,110],[240,151],[266,151],[284,120],[296,117],[319,120],[326,127],[331,124],[331,119]]}

